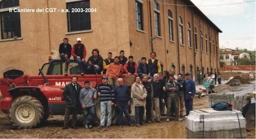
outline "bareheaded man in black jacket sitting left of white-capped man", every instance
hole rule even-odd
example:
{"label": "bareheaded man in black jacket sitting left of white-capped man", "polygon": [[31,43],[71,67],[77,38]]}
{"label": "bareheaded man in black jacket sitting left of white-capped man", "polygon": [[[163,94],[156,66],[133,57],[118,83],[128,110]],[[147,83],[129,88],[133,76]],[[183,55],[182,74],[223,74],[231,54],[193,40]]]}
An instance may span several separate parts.
{"label": "bareheaded man in black jacket sitting left of white-capped man", "polygon": [[65,61],[65,75],[68,75],[68,62],[71,56],[71,45],[68,44],[68,38],[63,39],[59,47],[60,59]]}

